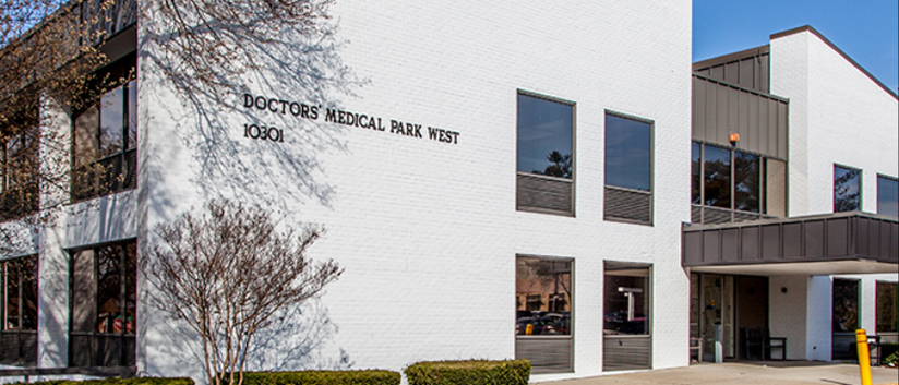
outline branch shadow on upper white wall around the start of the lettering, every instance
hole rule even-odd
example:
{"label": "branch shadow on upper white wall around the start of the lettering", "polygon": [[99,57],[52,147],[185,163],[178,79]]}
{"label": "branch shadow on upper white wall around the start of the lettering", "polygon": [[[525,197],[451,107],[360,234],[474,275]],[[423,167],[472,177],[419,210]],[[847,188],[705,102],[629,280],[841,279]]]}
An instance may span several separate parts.
{"label": "branch shadow on upper white wall around the start of the lettering", "polygon": [[[164,117],[157,113],[169,113],[163,121],[176,122],[178,137],[171,140],[179,140],[195,161],[196,172],[191,182],[200,197],[266,202],[286,213],[305,204],[332,207],[336,191],[327,181],[327,172],[319,158],[334,151],[346,152],[344,135],[348,129],[324,123],[325,109],[341,96],[352,96],[352,89],[365,83],[343,64],[338,55],[343,43],[337,40],[336,32],[336,22],[329,22],[315,34],[285,31],[274,40],[241,47],[244,55],[256,58],[263,68],[247,69],[239,75],[242,79],[217,80],[228,87],[211,89],[192,81],[190,74],[141,77],[147,80],[141,85],[141,101],[158,106],[147,123],[158,124],[153,121]],[[167,38],[147,34],[142,46],[161,45]],[[141,56],[142,61],[152,62],[161,73],[182,70],[165,55],[142,50]],[[180,100],[167,99],[155,92],[157,87],[171,88],[167,82],[176,82],[175,88],[182,91]],[[146,98],[144,93],[148,93]],[[281,100],[288,103],[281,107],[289,107],[289,103],[305,105],[303,109],[315,107],[317,119],[295,116],[290,108],[273,111],[247,107],[245,95],[277,99],[274,109]],[[278,128],[279,137],[277,141],[249,137],[245,128],[252,124]]]}

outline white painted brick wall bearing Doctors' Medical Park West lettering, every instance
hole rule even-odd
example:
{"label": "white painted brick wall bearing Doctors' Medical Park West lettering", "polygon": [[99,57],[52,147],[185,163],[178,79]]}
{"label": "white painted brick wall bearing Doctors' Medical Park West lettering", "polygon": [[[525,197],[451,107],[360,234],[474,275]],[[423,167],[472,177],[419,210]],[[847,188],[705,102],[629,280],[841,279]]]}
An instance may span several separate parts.
{"label": "white painted brick wall bearing Doctors' Medical Park West lettering", "polygon": [[[333,11],[336,52],[360,81],[340,84],[352,94],[312,88],[309,62],[248,75],[247,91],[458,131],[458,144],[247,111],[240,95],[203,100],[206,127],[142,57],[141,233],[217,194],[324,225],[311,255],[346,273],[304,312],[328,321],[325,339],[287,368],[339,365],[341,350],[357,369],[513,358],[516,254],[575,258],[575,373],[537,378],[601,373],[603,260],[654,264],[654,368],[687,364],[688,2],[353,0]],[[576,103],[575,218],[515,210],[519,88]],[[654,227],[602,220],[606,109],[655,121]],[[285,143],[243,139],[253,121],[284,128]],[[145,316],[141,369],[197,375],[191,347]]]}

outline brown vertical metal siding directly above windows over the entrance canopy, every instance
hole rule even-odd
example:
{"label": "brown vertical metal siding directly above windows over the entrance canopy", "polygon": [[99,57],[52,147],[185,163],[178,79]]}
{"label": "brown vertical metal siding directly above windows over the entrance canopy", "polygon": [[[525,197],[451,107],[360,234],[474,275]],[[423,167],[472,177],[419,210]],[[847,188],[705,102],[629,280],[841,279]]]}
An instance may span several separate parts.
{"label": "brown vertical metal siding directly above windows over the entrance canopy", "polygon": [[788,101],[693,76],[693,139],[724,146],[740,134],[738,148],[787,158]]}

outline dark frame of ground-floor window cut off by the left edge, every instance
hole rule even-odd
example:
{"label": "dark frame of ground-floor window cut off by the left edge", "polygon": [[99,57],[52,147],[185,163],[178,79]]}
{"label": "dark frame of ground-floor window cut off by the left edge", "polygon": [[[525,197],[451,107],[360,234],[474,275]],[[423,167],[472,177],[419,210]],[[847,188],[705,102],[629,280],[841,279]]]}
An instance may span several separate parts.
{"label": "dark frame of ground-floor window cut off by the left edge", "polygon": [[[32,261],[28,261],[32,260]],[[26,277],[21,272],[24,268],[31,268],[32,275],[31,277]],[[14,275],[9,274],[10,268],[15,268],[17,272]],[[39,316],[39,308],[38,304],[35,302],[34,305],[34,320],[32,320],[34,327],[26,328],[25,325],[25,312],[23,311],[23,305],[25,304],[25,287],[24,282],[26,278],[31,278],[34,280],[34,300],[38,300],[38,285],[39,285],[39,261],[37,255],[25,255],[20,257],[14,257],[10,260],[4,260],[0,262],[0,275],[2,276],[2,285],[0,285],[0,296],[2,296],[3,300],[0,301],[0,312],[2,312],[3,323],[0,325],[0,349],[2,352],[0,353],[0,363],[2,364],[12,364],[12,365],[20,365],[20,366],[37,366],[37,330],[38,330],[38,320]],[[7,313],[10,308],[9,303],[9,293],[8,288],[8,279],[10,276],[15,277],[16,279],[16,288],[17,292],[15,293],[16,297],[16,305],[17,309],[17,316],[16,316],[16,324],[19,327],[16,328],[9,328],[9,320]],[[12,344],[13,347],[7,347],[4,345]],[[31,346],[34,346],[34,350],[32,351]],[[14,351],[11,351],[14,350]],[[26,351],[28,350],[28,351]]]}

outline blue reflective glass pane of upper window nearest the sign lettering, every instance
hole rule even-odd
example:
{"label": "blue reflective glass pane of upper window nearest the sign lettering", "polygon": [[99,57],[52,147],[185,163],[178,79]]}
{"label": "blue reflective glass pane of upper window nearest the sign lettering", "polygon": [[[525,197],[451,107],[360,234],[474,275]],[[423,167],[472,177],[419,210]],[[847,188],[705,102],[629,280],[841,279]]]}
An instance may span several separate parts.
{"label": "blue reflective glass pane of upper window nearest the sign lettering", "polygon": [[572,178],[574,107],[518,94],[518,171]]}

